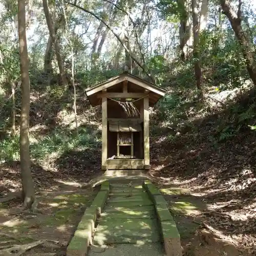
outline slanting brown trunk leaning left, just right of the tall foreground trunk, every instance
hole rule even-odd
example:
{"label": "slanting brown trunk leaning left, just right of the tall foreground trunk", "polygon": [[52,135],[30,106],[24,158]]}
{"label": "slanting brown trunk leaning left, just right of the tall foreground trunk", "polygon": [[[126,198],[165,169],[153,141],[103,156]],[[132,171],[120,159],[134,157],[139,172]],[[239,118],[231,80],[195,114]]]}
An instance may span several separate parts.
{"label": "slanting brown trunk leaning left, just right of the tall foreground trunk", "polygon": [[61,83],[62,83],[63,86],[65,86],[67,84],[67,77],[66,77],[66,74],[65,74],[65,69],[64,69],[62,57],[61,57],[61,54],[60,54],[59,41],[58,41],[58,38],[56,37],[55,29],[54,29],[51,14],[50,14],[48,0],[42,0],[42,5],[44,7],[44,12],[45,12],[45,16],[46,16],[46,23],[47,23],[47,26],[48,26],[48,29],[49,29],[49,33],[50,33],[50,36],[52,37],[52,41],[53,41],[53,44],[54,44],[55,55],[56,55],[56,59],[57,59],[57,62],[58,62],[58,68],[59,68]]}

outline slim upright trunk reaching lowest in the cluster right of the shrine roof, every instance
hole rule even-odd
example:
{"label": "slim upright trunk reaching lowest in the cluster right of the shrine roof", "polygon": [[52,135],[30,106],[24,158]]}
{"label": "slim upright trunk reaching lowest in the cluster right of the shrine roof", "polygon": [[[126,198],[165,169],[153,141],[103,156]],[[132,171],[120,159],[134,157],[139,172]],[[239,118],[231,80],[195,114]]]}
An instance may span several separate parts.
{"label": "slim upright trunk reaching lowest in the cluster right of the shrine roof", "polygon": [[197,82],[198,97],[203,98],[202,91],[202,70],[201,70],[201,61],[199,53],[199,20],[198,20],[198,10],[197,10],[197,0],[191,0],[192,7],[192,17],[193,17],[193,55],[194,55],[194,69],[195,69],[195,78]]}

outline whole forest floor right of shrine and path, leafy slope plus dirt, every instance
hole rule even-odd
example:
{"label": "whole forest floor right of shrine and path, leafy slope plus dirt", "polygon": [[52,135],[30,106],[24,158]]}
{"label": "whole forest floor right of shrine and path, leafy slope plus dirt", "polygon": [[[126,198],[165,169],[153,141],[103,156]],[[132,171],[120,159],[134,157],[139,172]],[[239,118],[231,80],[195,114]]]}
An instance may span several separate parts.
{"label": "whole forest floor right of shrine and path, leafy slope plus dirt", "polygon": [[[150,174],[165,188],[177,223],[195,227],[183,240],[186,255],[256,255],[256,133],[240,133],[218,146],[210,134],[206,121],[198,134],[173,141],[155,137]],[[175,195],[172,187],[189,192]]]}

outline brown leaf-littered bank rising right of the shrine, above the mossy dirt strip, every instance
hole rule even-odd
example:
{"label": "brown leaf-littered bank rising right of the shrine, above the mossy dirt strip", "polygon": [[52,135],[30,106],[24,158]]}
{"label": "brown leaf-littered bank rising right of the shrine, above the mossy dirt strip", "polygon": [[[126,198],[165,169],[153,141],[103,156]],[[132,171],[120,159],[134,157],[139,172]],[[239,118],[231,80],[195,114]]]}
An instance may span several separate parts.
{"label": "brown leaf-littered bank rising right of the shrine, above the mossy dirt strip", "polygon": [[[169,197],[174,216],[178,211],[181,216],[193,216],[190,221],[207,225],[207,230],[211,227],[217,237],[223,236],[220,240],[229,238],[245,254],[252,255],[256,251],[255,132],[244,127],[243,132],[220,142],[218,126],[228,125],[227,115],[229,112],[223,110],[201,120],[188,120],[189,129],[181,129],[179,136],[161,143],[159,137],[153,137],[150,174]],[[172,132],[168,129],[162,137]],[[163,190],[168,186],[188,189],[190,196],[175,194],[180,199],[175,198],[172,192]],[[182,208],[177,203],[194,205],[195,201],[199,202],[196,209]]]}

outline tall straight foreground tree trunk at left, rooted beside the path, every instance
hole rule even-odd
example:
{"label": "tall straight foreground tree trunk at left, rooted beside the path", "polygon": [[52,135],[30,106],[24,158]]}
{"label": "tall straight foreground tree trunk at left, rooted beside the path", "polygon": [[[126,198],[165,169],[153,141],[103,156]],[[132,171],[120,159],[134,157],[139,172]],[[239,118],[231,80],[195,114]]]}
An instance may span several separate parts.
{"label": "tall straight foreground tree trunk at left, rooted beside the path", "polygon": [[22,106],[20,112],[20,170],[22,176],[23,203],[31,208],[35,201],[34,183],[30,169],[29,154],[29,110],[30,110],[30,80],[29,57],[26,38],[25,0],[18,1],[18,37],[20,54],[20,74],[22,77]]}

